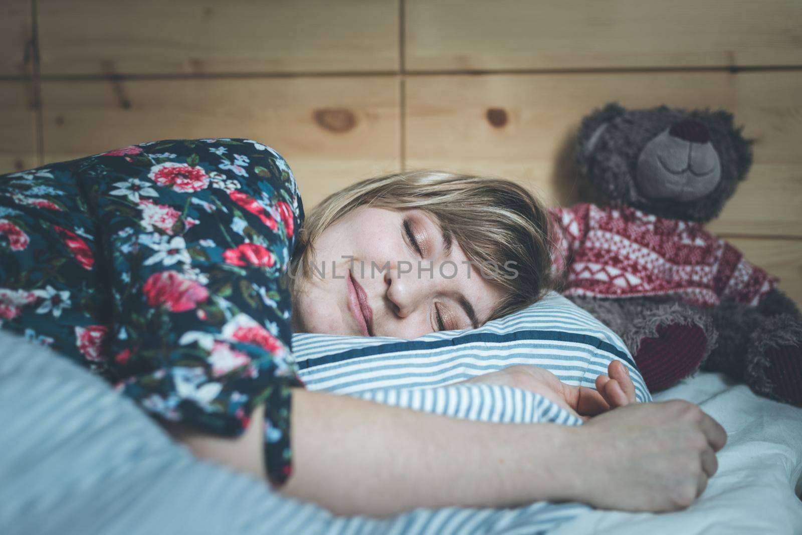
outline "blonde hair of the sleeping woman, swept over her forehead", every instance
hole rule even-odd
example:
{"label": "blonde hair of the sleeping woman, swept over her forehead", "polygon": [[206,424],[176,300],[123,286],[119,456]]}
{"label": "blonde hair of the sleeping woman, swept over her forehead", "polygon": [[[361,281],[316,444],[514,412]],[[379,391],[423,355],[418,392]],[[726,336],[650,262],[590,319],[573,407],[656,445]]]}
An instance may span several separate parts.
{"label": "blonde hair of the sleeping woman, swept over her forehead", "polygon": [[489,319],[529,306],[552,288],[550,219],[541,202],[510,180],[442,171],[376,176],[326,197],[306,217],[290,270],[297,274],[300,262],[302,273],[309,276],[315,240],[359,206],[425,210],[473,265],[514,262],[515,277],[482,271],[484,278],[507,290]]}

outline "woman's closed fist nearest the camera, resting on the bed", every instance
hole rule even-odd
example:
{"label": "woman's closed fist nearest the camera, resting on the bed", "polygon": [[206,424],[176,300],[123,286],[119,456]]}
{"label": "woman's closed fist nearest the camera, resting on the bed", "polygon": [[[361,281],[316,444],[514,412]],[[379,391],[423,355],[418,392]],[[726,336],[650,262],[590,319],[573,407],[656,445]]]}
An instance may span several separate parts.
{"label": "woman's closed fist nearest the camera, resting on the bed", "polygon": [[570,496],[602,509],[673,511],[702,494],[719,468],[724,428],[693,403],[634,403],[566,428]]}

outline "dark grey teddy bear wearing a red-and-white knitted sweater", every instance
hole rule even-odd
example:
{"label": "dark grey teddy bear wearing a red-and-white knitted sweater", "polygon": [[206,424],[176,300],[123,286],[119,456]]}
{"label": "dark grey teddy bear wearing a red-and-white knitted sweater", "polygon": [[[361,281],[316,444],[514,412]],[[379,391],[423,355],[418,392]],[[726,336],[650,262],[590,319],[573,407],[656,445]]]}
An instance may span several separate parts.
{"label": "dark grey teddy bear wearing a red-and-white knitted sweater", "polygon": [[550,209],[560,290],[617,332],[650,390],[698,369],[802,406],[802,314],[777,278],[703,225],[751,167],[727,111],[607,104],[579,171],[603,201]]}

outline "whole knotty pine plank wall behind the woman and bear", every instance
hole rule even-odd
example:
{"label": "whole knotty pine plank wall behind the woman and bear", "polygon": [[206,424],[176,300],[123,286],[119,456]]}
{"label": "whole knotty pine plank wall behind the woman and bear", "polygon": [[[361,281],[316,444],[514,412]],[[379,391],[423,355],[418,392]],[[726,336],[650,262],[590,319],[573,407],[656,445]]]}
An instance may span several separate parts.
{"label": "whole knotty pine plank wall behind the woman and bear", "polygon": [[611,100],[735,113],[755,164],[710,229],[802,302],[799,0],[0,2],[0,172],[241,136],[310,207],[430,167],[570,204],[577,126]]}

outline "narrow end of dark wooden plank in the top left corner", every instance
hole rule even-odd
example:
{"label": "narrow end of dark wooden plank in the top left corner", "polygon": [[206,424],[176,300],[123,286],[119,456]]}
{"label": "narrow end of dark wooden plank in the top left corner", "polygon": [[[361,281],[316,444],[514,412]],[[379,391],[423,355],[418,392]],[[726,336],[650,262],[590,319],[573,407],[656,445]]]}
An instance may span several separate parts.
{"label": "narrow end of dark wooden plank in the top left corner", "polygon": [[0,76],[30,75],[30,0],[0,2]]}

